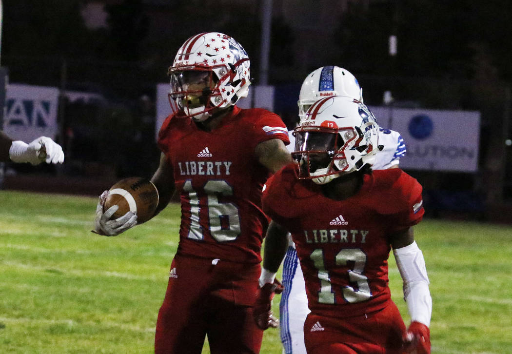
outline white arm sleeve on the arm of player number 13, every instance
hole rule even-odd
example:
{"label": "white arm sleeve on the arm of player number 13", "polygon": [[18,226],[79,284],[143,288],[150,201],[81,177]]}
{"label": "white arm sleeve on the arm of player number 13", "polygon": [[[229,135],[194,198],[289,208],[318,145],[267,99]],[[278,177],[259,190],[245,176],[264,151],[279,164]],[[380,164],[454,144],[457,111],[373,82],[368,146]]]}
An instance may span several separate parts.
{"label": "white arm sleeve on the arm of player number 13", "polygon": [[393,254],[403,280],[403,298],[407,302],[411,322],[417,321],[429,327],[432,298],[423,253],[414,241],[408,246],[393,249]]}

